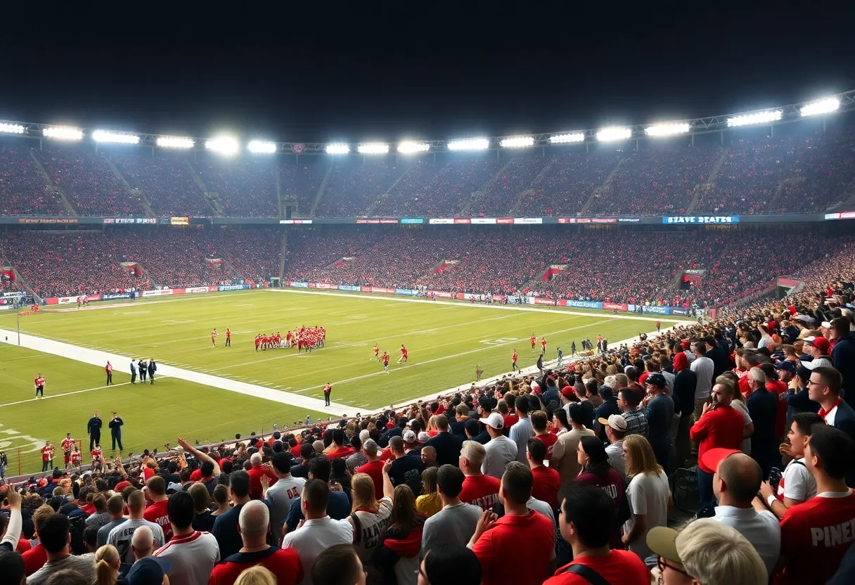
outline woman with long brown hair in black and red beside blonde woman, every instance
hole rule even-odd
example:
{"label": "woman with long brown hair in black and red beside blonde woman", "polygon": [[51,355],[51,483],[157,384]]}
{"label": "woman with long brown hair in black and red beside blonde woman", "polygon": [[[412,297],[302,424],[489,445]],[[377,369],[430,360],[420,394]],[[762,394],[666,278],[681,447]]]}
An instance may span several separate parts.
{"label": "woman with long brown hair in black and red beside blonde woman", "polygon": [[416,510],[416,497],[410,487],[395,488],[386,539],[374,555],[375,566],[383,571],[382,582],[416,585],[424,522],[425,517]]}

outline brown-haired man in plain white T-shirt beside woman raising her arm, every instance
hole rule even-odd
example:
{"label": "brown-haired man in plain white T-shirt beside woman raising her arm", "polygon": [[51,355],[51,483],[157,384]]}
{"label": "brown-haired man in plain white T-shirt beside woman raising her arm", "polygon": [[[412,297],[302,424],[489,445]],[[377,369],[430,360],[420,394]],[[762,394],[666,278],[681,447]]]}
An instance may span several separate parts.
{"label": "brown-haired man in plain white T-shirt beside woman raising her arm", "polygon": [[[278,483],[278,482],[277,482]],[[282,539],[282,548],[293,548],[300,564],[311,567],[315,558],[329,547],[353,542],[353,527],[347,520],[333,520],[327,516],[329,486],[322,480],[311,479],[303,487],[300,508],[304,520],[296,530]],[[303,585],[313,585],[311,570],[304,570]],[[319,584],[320,585],[320,584]]]}

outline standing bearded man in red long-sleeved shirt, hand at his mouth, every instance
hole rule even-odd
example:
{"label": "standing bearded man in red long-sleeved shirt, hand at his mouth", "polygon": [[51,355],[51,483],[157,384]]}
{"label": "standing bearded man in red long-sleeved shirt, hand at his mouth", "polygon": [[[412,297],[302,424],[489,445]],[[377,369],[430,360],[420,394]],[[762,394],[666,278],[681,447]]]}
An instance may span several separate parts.
{"label": "standing bearded man in red long-sleeved shirt, hand at his mouth", "polygon": [[716,384],[712,387],[711,401],[705,403],[701,416],[689,430],[689,437],[698,445],[698,493],[700,506],[712,505],[712,475],[715,469],[704,464],[704,453],[716,447],[739,449],[745,422],[742,413],[730,405],[734,387]]}

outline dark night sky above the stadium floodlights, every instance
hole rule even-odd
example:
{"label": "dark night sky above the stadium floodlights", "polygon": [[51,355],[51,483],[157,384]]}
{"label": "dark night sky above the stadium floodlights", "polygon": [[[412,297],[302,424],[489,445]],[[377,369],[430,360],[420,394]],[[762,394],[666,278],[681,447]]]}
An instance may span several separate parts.
{"label": "dark night sky above the stadium floodlights", "polygon": [[49,21],[4,25],[0,119],[450,139],[728,114],[855,87],[843,3],[179,4],[42,9]]}

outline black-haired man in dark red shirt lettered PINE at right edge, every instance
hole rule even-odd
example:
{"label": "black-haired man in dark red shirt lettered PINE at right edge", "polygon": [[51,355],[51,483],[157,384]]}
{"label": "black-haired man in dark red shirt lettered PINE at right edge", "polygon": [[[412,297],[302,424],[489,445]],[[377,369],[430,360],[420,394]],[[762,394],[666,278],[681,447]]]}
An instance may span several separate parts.
{"label": "black-haired man in dark red shirt lettered PINE at right edge", "polygon": [[817,495],[790,506],[781,519],[783,585],[827,582],[852,545],[855,493],[846,487],[846,471],[853,458],[855,444],[845,431],[812,428],[805,467],[817,481]]}

